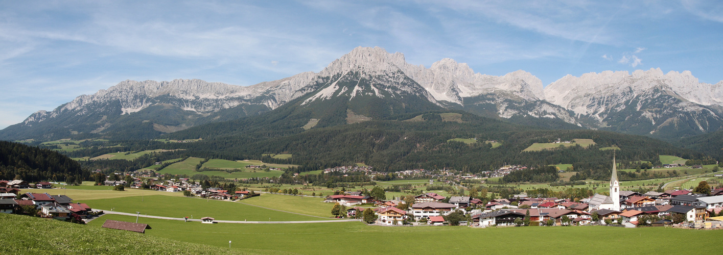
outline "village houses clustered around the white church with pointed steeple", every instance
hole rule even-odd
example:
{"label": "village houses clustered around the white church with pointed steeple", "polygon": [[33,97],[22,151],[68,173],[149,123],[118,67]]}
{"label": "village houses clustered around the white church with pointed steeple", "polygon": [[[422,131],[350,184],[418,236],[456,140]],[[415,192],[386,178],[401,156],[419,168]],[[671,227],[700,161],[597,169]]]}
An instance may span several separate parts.
{"label": "village houses clustered around the white church with pointed steeple", "polygon": [[[529,198],[525,195],[513,199],[493,199],[486,204],[469,196],[452,196],[448,202],[445,196],[435,193],[420,194],[414,197],[414,204],[409,209],[396,208],[403,201],[377,202],[375,209],[377,222],[382,225],[402,224],[403,220],[427,220],[427,224],[442,225],[442,215],[448,215],[458,209],[471,216],[474,227],[519,225],[527,215],[531,222],[540,225],[587,225],[597,223],[620,224],[634,228],[641,222],[643,215],[657,216],[663,220],[646,222],[646,225],[672,225],[672,218],[677,215],[682,225],[695,228],[723,228],[723,218],[711,218],[723,210],[723,189],[711,190],[710,195],[691,194],[687,190],[668,190],[664,192],[650,191],[640,194],[635,191],[620,190],[617,179],[615,159],[613,159],[610,180],[610,196],[595,194],[579,202],[570,199]],[[328,196],[326,202],[339,202],[347,206],[374,202],[369,196],[343,194]],[[467,207],[479,209],[467,210]],[[348,215],[354,215],[360,207],[348,209]],[[668,217],[670,216],[670,217]]]}

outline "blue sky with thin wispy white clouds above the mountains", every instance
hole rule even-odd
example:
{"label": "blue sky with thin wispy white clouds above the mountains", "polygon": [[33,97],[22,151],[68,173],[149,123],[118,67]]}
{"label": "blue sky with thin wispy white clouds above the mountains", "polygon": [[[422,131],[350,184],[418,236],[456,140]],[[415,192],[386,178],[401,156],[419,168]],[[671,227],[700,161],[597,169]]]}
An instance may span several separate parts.
{"label": "blue sky with thin wispy white clouds above the mountains", "polygon": [[247,86],[357,46],[544,85],[651,68],[715,84],[722,42],[717,1],[0,0],[0,129],[126,79]]}

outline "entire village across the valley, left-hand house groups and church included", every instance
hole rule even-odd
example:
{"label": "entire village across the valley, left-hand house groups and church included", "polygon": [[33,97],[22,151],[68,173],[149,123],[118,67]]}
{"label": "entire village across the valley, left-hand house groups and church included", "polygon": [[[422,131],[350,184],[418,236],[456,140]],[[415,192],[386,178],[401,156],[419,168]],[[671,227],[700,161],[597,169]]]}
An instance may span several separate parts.
{"label": "entire village across the valley, left-hand house groups and church included", "polygon": [[[363,171],[372,168],[330,168],[330,172]],[[411,173],[428,172],[420,170]],[[401,173],[396,173],[401,174]],[[108,176],[110,177],[110,176]],[[642,226],[672,226],[677,228],[723,228],[723,189],[701,190],[674,189],[664,192],[649,191],[644,194],[620,190],[617,170],[613,166],[609,196],[594,194],[573,201],[555,197],[529,197],[525,193],[509,198],[491,199],[484,202],[471,196],[442,196],[434,192],[410,194],[385,199],[382,189],[372,191],[335,191],[329,196],[299,194],[298,191],[267,189],[252,191],[238,187],[225,190],[204,188],[201,183],[188,178],[158,181],[150,178],[147,185],[142,178],[129,177],[127,181],[103,181],[103,185],[116,188],[129,186],[153,191],[183,192],[184,196],[236,201],[262,194],[284,194],[318,198],[320,202],[335,203],[334,217],[354,218],[375,225],[467,225],[474,228],[513,227],[522,225],[611,225],[636,228]],[[430,180],[431,181],[431,180]],[[20,192],[21,189],[38,189],[38,192]],[[121,188],[122,189],[122,188]],[[73,203],[63,195],[51,195],[54,183],[27,183],[22,180],[0,181],[0,212],[16,213],[33,209],[41,217],[59,220],[82,221],[97,214],[87,204]],[[43,192],[46,191],[46,192]],[[381,195],[379,195],[381,192]],[[379,199],[383,197],[382,199]]]}

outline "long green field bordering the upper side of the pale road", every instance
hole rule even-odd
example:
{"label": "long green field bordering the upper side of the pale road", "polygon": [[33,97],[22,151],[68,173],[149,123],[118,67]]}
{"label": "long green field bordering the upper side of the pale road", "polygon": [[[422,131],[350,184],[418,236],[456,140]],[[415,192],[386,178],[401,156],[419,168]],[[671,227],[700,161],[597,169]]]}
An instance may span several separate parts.
{"label": "long green field bordering the upper side of the pale road", "polygon": [[[168,193],[181,194],[181,192]],[[140,196],[127,196],[112,199],[75,199],[74,202],[86,203],[93,209],[113,209],[116,212],[128,213],[140,212],[141,214],[163,217],[193,217],[194,219],[200,219],[208,216],[214,217],[216,220],[249,221],[268,221],[269,219],[271,221],[322,220],[318,217],[279,212],[236,202],[183,196],[146,195],[142,199]],[[331,212],[331,209],[329,209],[329,212]]]}

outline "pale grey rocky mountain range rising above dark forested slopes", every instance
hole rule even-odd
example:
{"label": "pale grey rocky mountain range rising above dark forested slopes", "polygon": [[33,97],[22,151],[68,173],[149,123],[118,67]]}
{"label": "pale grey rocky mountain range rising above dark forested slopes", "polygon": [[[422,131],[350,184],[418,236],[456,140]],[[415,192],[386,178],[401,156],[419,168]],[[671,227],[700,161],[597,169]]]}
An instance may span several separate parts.
{"label": "pale grey rocky mountain range rising above dark forested slopes", "polygon": [[358,47],[321,72],[247,87],[198,79],[127,80],[33,113],[1,130],[0,139],[150,139],[281,110],[276,116],[295,116],[294,125],[304,129],[467,111],[518,124],[672,141],[723,129],[723,81],[711,85],[688,71],[649,69],[568,75],[544,87],[521,70],[497,77],[453,59],[427,68],[408,64],[402,53]]}

